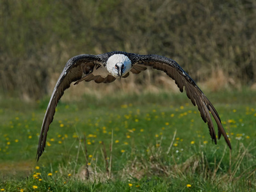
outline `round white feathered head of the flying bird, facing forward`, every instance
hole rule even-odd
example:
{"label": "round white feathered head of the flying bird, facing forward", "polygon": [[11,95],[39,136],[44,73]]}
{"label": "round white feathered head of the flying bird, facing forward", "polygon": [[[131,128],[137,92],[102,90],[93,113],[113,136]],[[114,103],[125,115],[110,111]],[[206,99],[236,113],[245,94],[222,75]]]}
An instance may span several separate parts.
{"label": "round white feathered head of the flying bird, facing forward", "polygon": [[114,77],[122,77],[131,70],[132,62],[124,54],[113,54],[108,58],[106,68]]}

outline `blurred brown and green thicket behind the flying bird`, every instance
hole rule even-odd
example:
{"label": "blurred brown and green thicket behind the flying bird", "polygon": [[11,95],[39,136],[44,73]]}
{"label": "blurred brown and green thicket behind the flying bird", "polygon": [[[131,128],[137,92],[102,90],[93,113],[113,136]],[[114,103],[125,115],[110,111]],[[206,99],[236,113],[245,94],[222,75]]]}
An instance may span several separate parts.
{"label": "blurred brown and green thicket behind the flying bird", "polygon": [[[255,6],[252,0],[1,0],[0,88],[38,99],[52,91],[51,79],[69,58],[109,51],[160,54],[196,81],[221,74],[226,86],[251,85]],[[146,77],[131,81],[143,84]]]}

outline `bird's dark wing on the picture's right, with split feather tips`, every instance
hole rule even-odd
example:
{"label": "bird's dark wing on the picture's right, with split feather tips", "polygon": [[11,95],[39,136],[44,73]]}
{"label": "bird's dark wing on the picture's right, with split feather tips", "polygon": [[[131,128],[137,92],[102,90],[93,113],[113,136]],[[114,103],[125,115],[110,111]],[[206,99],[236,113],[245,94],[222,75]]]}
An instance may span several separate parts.
{"label": "bird's dark wing on the picture's right, with split feather tips", "polygon": [[138,58],[139,60],[134,64],[134,67],[136,65],[144,65],[156,68],[157,70],[162,70],[168,76],[172,77],[179,87],[180,92],[183,92],[183,89],[185,88],[188,98],[191,100],[194,106],[198,106],[202,119],[204,122],[207,122],[211,138],[216,144],[216,134],[214,131],[214,125],[212,124],[210,115],[211,112],[216,124],[218,125],[218,138],[220,139],[222,134],[228,144],[228,147],[231,149],[230,141],[228,140],[228,136],[223,128],[223,125],[221,124],[220,116],[218,115],[216,109],[214,106],[212,106],[211,102],[209,99],[207,99],[200,88],[198,88],[195,81],[193,81],[193,79],[186,74],[178,63],[169,58],[152,54],[141,55]]}

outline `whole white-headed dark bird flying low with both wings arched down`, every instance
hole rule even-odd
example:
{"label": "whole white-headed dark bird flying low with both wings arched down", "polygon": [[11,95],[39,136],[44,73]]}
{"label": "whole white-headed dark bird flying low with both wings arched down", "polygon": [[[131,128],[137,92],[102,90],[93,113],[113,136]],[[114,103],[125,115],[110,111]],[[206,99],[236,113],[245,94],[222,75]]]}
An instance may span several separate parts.
{"label": "whole white-headed dark bird flying low with both wings arched down", "polygon": [[175,81],[180,92],[186,91],[186,95],[193,105],[198,107],[202,120],[205,123],[207,122],[212,141],[217,144],[216,133],[211,119],[212,115],[218,126],[218,139],[222,135],[228,147],[232,148],[218,112],[196,85],[195,81],[189,77],[176,61],[157,54],[141,55],[124,51],[112,51],[97,55],[80,54],[67,61],[54,87],[45,112],[36,152],[37,161],[44,152],[47,132],[53,120],[58,101],[71,83],[78,84],[81,81],[111,83],[115,79],[128,77],[130,73],[139,74],[141,71],[147,70],[147,68],[156,68],[165,72]]}

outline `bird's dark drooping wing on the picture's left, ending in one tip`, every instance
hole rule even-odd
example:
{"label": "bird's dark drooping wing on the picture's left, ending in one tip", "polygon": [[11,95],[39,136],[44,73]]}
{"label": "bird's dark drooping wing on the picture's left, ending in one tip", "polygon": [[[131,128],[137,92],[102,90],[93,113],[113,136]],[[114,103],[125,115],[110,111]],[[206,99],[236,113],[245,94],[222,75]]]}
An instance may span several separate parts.
{"label": "bird's dark drooping wing on the picture's left, ending in one tip", "polygon": [[93,76],[92,72],[95,65],[99,65],[99,67],[100,65],[103,65],[101,58],[99,56],[90,55],[90,54],[81,54],[79,56],[75,56],[74,58],[71,58],[70,60],[68,60],[67,64],[63,69],[63,72],[61,73],[56,83],[56,86],[54,87],[54,90],[51,95],[51,99],[49,101],[47,110],[45,112],[44,121],[42,124],[39,141],[38,141],[38,148],[37,148],[37,154],[36,154],[37,161],[39,157],[42,155],[42,153],[44,152],[46,138],[47,138],[47,131],[49,130],[49,125],[53,120],[56,106],[61,96],[63,95],[64,90],[69,88],[72,82],[79,81],[80,79],[83,79],[85,81],[91,81],[91,80],[99,81],[97,83],[102,83],[102,82],[108,83],[106,81],[113,80],[113,78],[109,79],[109,77],[102,78],[100,76]]}

